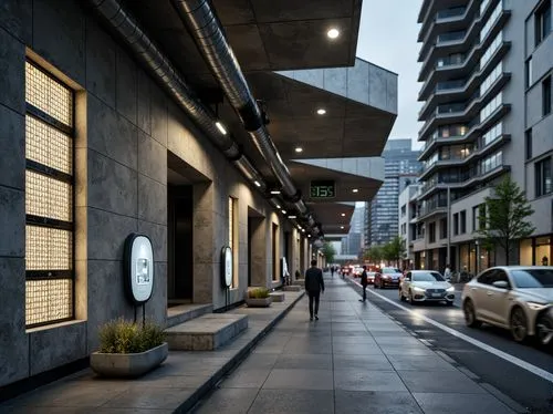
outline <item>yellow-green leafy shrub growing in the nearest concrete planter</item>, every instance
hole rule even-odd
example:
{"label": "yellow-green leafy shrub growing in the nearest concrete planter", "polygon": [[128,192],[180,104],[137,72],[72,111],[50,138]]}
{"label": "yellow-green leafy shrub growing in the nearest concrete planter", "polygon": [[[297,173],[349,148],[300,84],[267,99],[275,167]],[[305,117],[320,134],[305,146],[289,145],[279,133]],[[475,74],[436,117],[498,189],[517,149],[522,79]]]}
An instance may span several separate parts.
{"label": "yellow-green leafy shrub growing in the nearest concrete planter", "polygon": [[159,346],[165,342],[163,329],[147,322],[144,327],[124,319],[100,327],[100,352],[138,353]]}

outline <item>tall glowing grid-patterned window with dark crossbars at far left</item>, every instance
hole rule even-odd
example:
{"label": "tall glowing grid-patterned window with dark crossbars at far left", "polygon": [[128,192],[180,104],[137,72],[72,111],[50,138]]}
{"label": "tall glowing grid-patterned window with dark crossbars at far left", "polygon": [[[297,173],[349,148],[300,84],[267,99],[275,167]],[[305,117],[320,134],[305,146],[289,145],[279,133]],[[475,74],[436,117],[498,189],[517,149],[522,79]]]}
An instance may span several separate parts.
{"label": "tall glowing grid-patterned window with dark crossbars at far left", "polygon": [[73,318],[73,91],[25,63],[25,324]]}

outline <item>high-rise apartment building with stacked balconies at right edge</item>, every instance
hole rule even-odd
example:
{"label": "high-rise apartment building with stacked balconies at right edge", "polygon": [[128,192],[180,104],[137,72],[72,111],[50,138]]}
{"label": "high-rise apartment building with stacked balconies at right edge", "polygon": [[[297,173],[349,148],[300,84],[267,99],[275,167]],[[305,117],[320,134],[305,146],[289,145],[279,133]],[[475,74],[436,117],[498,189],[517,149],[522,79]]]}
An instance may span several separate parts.
{"label": "high-rise apartment building with stacked balconies at right edge", "polygon": [[504,252],[481,248],[477,231],[484,199],[505,174],[535,210],[536,230],[512,262],[551,262],[551,0],[424,0],[419,23],[425,147],[415,265],[442,270],[448,236],[456,270],[503,263]]}

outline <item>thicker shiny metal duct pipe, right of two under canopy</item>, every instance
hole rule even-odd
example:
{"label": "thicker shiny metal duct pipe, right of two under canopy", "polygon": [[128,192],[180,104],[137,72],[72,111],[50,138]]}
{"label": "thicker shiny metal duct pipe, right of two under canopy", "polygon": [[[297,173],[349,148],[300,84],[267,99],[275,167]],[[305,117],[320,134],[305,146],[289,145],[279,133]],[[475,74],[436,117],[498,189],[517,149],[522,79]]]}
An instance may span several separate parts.
{"label": "thicker shiny metal duct pipe, right of two under canopy", "polygon": [[207,0],[171,0],[180,19],[190,31],[196,45],[202,53],[215,76],[219,81],[229,102],[240,116],[259,152],[271,166],[282,185],[284,196],[294,204],[300,214],[307,207],[295,188],[290,172],[276,151],[269,131],[264,126],[261,111],[240,69],[232,49],[223,34],[221,24]]}

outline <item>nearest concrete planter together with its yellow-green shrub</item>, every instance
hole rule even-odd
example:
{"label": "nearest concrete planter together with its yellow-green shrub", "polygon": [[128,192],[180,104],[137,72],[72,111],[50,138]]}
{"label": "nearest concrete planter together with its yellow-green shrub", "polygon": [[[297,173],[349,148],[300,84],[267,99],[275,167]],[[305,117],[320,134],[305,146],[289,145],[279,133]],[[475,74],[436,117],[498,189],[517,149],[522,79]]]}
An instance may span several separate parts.
{"label": "nearest concrete planter together with its yellow-green shrub", "polygon": [[91,368],[103,376],[139,376],[157,368],[168,353],[160,327],[119,319],[100,328],[100,350],[91,355]]}

